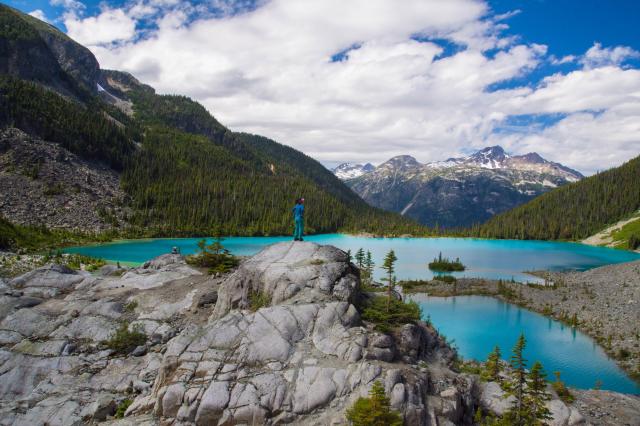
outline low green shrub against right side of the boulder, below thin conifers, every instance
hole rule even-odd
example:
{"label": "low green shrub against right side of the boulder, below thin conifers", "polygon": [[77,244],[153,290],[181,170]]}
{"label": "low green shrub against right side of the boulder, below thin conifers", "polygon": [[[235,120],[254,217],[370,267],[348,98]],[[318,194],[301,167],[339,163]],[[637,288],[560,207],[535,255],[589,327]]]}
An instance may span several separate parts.
{"label": "low green shrub against right side of the boulder, below thin conifers", "polygon": [[420,321],[420,306],[414,301],[375,296],[362,309],[362,319],[375,324],[376,330],[387,332],[392,327]]}

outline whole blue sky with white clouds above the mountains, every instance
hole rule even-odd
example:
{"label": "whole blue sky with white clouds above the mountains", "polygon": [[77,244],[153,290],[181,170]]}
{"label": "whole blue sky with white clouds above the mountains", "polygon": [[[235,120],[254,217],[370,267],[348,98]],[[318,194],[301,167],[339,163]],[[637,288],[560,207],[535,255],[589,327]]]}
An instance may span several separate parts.
{"label": "whole blue sky with white clouds above the mountains", "polygon": [[325,163],[640,153],[635,0],[9,0],[105,68]]}

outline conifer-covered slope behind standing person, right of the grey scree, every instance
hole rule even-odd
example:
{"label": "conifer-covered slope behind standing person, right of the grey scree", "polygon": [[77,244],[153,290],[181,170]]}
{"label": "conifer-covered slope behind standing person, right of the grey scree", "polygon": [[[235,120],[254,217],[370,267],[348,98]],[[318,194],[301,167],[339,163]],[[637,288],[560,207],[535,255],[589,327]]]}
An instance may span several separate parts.
{"label": "conifer-covered slope behind standing person, right of the grey scree", "polygon": [[296,198],[307,202],[309,232],[426,234],[425,228],[369,207],[310,157],[268,138],[234,133],[184,96],[157,95],[126,74],[142,148],[122,175],[131,224],[155,234],[272,235],[291,230]]}

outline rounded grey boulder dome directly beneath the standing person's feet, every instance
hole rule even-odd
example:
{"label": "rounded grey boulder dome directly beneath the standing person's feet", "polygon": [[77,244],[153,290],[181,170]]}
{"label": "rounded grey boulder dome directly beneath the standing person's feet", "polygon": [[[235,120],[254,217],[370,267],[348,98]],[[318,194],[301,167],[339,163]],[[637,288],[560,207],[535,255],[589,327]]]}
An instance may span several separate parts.
{"label": "rounded grey boulder dome directly beneath the standing person's feet", "polygon": [[252,292],[266,293],[272,305],[348,302],[357,284],[358,271],[340,249],[310,242],[274,244],[245,261],[222,284],[212,318],[248,308]]}

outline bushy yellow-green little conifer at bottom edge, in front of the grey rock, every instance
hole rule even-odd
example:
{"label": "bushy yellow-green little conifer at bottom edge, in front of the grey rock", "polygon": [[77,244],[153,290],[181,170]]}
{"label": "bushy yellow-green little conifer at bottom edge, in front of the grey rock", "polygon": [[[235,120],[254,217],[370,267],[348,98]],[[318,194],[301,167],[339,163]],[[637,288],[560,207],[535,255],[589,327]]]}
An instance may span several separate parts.
{"label": "bushy yellow-green little conifer at bottom edge, in front of the grey rock", "polygon": [[373,383],[368,398],[358,400],[347,410],[353,426],[402,426],[402,416],[391,409],[389,398],[380,381]]}

